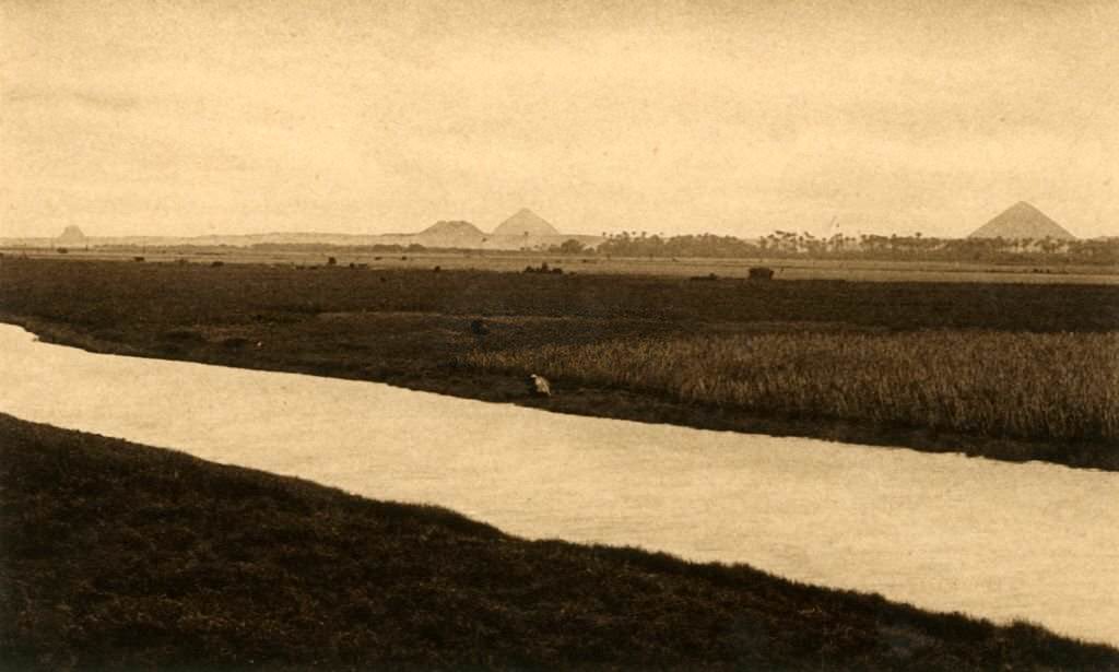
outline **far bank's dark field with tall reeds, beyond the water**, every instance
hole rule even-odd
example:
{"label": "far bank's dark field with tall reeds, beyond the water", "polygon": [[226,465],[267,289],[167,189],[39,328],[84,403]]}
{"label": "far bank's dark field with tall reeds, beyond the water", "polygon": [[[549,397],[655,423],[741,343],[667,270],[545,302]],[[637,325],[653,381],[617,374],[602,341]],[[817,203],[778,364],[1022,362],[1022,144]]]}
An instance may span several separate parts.
{"label": "far bank's dark field with tall reeds, beyond the water", "polygon": [[[1116,286],[6,258],[0,319],[103,352],[1119,470]],[[558,394],[528,397],[528,371]]]}

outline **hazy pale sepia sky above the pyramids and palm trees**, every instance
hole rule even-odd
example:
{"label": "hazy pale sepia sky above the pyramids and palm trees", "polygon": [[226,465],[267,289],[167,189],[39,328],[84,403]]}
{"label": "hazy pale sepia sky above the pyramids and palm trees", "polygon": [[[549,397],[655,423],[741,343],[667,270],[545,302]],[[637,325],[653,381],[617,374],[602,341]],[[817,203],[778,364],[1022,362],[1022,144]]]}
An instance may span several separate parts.
{"label": "hazy pale sepia sky above the pyramids and palm trees", "polygon": [[0,236],[1119,235],[1119,1],[0,2]]}

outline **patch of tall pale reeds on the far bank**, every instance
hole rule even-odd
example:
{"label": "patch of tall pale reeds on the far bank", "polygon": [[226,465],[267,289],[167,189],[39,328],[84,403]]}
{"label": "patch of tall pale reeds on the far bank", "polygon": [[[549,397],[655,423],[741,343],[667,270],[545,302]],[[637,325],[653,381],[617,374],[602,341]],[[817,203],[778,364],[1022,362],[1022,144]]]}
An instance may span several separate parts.
{"label": "patch of tall pale reeds on the far bank", "polygon": [[650,338],[474,351],[463,363],[767,414],[996,437],[1119,438],[1119,333]]}

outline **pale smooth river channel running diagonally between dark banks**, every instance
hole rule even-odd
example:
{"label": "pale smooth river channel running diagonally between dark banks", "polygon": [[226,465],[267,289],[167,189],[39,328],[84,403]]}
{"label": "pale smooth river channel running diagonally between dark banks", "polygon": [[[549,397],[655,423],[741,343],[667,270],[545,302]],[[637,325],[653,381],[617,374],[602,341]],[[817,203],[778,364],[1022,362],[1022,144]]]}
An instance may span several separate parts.
{"label": "pale smooth river channel running diagonally between dark banks", "polygon": [[1119,645],[1119,474],[93,354],[0,325],[0,411]]}

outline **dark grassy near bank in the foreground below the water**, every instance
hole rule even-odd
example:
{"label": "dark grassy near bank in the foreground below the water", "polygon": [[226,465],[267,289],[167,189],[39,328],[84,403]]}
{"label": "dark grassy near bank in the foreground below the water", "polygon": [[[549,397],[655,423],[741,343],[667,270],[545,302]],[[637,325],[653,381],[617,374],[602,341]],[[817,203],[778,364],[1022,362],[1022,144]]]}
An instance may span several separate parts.
{"label": "dark grassy near bank in the foreground below the water", "polygon": [[1119,668],[1025,624],[530,542],[3,415],[0,511],[4,669]]}

